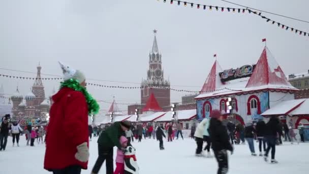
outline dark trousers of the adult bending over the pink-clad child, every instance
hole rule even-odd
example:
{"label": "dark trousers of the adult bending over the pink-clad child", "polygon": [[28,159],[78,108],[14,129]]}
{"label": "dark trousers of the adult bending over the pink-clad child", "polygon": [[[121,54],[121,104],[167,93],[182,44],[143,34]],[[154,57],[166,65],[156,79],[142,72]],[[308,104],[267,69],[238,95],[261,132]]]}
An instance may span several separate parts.
{"label": "dark trousers of the adult bending over the pink-clad child", "polygon": [[99,157],[96,161],[94,168],[92,168],[92,172],[99,173],[102,164],[106,160],[106,174],[113,174],[114,172],[113,148],[104,148],[100,144],[98,144],[98,152]]}

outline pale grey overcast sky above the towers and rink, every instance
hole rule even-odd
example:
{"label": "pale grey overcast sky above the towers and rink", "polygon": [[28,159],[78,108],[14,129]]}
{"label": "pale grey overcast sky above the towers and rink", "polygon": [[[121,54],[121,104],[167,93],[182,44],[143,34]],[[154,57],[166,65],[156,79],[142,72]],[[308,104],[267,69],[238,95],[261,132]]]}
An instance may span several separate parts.
{"label": "pale grey overcast sky above the towers and rink", "polygon": [[[188,0],[189,1],[189,0]],[[165,78],[172,88],[201,90],[217,53],[223,69],[255,64],[262,52],[262,38],[285,74],[309,69],[309,37],[299,36],[253,14],[197,10],[170,5],[163,0],[0,0],[0,68],[61,75],[57,61],[83,71],[87,78],[125,81],[88,82],[139,86],[146,78],[152,30],[157,40]],[[219,0],[193,1],[207,5],[237,7]],[[235,3],[309,20],[306,0],[234,0]],[[309,23],[263,15],[309,32]],[[0,70],[2,74],[35,77],[35,74]],[[50,77],[43,76],[42,77]],[[5,93],[29,92],[33,80],[0,77]],[[43,81],[49,96],[59,81]],[[182,87],[190,85],[200,87]],[[139,90],[87,87],[96,99],[140,102]],[[172,102],[188,93],[171,92]],[[101,104],[108,109],[108,104]],[[119,105],[126,110],[127,106]]]}

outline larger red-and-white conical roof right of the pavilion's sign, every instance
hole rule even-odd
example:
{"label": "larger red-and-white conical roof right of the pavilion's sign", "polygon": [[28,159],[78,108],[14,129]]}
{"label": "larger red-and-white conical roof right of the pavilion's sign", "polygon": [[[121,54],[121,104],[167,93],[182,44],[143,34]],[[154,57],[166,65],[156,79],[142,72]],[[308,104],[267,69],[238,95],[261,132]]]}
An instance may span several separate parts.
{"label": "larger red-and-white conical roof right of the pavilion's sign", "polygon": [[262,85],[291,85],[279,64],[265,46],[246,88]]}

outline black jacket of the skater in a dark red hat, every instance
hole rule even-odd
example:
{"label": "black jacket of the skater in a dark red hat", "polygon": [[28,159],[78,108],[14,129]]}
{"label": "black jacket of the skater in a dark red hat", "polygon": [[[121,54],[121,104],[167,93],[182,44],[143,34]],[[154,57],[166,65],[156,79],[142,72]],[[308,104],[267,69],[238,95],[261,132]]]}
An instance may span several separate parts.
{"label": "black jacket of the skater in a dark red hat", "polygon": [[211,139],[211,148],[213,149],[213,151],[233,151],[233,147],[229,141],[227,130],[220,120],[211,118],[208,130]]}

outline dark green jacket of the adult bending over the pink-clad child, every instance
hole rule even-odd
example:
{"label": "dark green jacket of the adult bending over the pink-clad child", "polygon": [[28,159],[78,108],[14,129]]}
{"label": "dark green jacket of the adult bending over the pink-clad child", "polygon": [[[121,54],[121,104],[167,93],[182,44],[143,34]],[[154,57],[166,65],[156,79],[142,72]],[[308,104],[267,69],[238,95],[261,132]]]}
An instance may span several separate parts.
{"label": "dark green jacket of the adult bending over the pink-clad child", "polygon": [[116,146],[118,149],[121,149],[119,138],[122,135],[126,136],[126,132],[121,129],[120,122],[115,122],[106,128],[106,130],[102,131],[98,139],[98,144],[104,148],[113,148]]}

